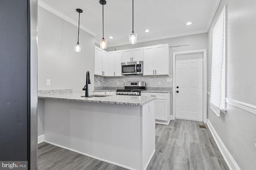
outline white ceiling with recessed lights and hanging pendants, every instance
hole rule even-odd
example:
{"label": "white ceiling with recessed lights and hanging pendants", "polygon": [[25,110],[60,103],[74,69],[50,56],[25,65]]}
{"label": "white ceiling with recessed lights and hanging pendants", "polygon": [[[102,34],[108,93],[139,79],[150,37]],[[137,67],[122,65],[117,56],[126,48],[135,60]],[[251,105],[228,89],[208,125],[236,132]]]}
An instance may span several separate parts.
{"label": "white ceiling with recessed lights and hanging pendants", "polygon": [[[78,21],[102,39],[102,5],[99,0],[41,0]],[[129,44],[132,32],[132,0],[106,0],[104,38],[108,47]],[[138,42],[207,32],[220,0],[134,0],[134,32]],[[190,21],[192,25],[186,25]],[[144,30],[150,32],[145,33]],[[113,36],[114,39],[109,39]]]}

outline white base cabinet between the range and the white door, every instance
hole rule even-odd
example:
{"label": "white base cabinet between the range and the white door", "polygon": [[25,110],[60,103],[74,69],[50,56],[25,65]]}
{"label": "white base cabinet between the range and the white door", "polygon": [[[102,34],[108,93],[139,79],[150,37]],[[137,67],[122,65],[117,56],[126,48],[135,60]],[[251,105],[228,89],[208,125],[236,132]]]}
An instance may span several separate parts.
{"label": "white base cabinet between the range and the white door", "polygon": [[168,125],[170,122],[170,93],[145,93],[141,96],[156,96],[155,119],[156,123]]}

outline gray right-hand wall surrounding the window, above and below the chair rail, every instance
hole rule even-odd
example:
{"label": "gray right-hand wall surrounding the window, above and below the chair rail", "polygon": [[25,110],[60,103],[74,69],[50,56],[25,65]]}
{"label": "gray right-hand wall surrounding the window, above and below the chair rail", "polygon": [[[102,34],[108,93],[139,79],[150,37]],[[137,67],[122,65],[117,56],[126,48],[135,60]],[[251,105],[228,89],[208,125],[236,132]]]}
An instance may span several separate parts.
{"label": "gray right-hand wall surrounding the window, above and below the chair rail", "polygon": [[[227,98],[256,105],[256,1],[222,0],[208,32],[208,90],[212,52],[212,28],[227,4]],[[256,115],[227,104],[227,113],[208,119],[241,170],[256,167]]]}

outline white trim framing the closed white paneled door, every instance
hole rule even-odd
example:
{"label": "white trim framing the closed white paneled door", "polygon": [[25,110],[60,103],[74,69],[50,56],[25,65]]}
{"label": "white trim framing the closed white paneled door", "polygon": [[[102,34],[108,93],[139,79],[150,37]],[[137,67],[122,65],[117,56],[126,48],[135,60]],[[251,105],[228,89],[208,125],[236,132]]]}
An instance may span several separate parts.
{"label": "white trim framing the closed white paneled door", "polygon": [[175,105],[175,93],[176,93],[176,56],[186,55],[186,54],[203,54],[203,121],[207,123],[207,49],[192,50],[192,51],[182,51],[173,53],[173,95],[172,95],[172,115],[173,119],[176,117],[176,105]]}

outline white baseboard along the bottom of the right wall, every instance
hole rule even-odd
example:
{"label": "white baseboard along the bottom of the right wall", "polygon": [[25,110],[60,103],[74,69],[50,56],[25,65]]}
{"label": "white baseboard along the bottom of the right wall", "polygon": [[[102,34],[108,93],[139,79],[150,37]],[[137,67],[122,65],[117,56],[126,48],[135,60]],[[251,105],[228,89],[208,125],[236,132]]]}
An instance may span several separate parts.
{"label": "white baseboard along the bottom of the right wall", "polygon": [[220,139],[219,135],[215,131],[215,129],[212,126],[212,124],[209,121],[209,119],[207,119],[207,125],[208,125],[209,130],[212,133],[212,136],[213,136],[213,138],[214,138],[214,140],[215,140],[215,142],[216,142],[216,144],[217,144],[217,146],[218,146],[222,156],[224,157],[224,160],[228,164],[228,168],[230,170],[240,170],[238,164],[236,163],[236,161],[234,160],[234,158],[232,157],[232,155],[230,154],[230,152],[228,151],[228,149],[226,148],[226,146],[224,145],[224,143]]}

